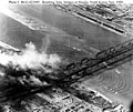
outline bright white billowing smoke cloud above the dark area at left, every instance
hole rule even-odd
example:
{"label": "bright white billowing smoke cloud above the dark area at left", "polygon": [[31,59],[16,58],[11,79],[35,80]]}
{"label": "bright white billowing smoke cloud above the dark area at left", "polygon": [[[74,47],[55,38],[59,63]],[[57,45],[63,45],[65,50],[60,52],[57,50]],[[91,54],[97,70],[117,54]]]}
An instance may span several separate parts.
{"label": "bright white billowing smoke cloud above the dark area at left", "polygon": [[[47,54],[38,52],[35,45],[30,42],[25,44],[25,49],[20,54],[6,52],[0,53],[0,64],[8,67],[11,64],[14,69],[43,69],[44,72],[52,72],[58,68],[58,63],[61,62],[61,58],[58,54]],[[48,68],[49,67],[49,68]]]}

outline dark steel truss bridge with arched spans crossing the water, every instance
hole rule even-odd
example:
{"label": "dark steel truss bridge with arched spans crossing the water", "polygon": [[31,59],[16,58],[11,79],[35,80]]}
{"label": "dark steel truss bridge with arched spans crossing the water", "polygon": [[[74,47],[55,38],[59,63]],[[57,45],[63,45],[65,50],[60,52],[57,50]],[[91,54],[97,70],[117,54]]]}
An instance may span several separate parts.
{"label": "dark steel truss bridge with arched spans crossing the water", "polygon": [[74,83],[82,78],[91,75],[100,75],[109,69],[123,64],[133,59],[133,39],[124,43],[102,50],[94,58],[84,58],[81,62],[70,63],[60,79],[61,84]]}

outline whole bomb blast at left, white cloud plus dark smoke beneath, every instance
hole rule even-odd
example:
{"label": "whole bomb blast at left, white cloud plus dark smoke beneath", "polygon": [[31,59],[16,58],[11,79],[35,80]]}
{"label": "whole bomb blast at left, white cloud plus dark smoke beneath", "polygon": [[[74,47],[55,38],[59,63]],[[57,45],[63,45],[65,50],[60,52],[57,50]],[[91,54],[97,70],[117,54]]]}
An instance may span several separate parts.
{"label": "whole bomb blast at left, white cloud plus dark smoke beneath", "polygon": [[48,74],[54,78],[61,62],[58,54],[39,52],[32,42],[19,52],[1,49],[0,59],[0,103],[17,110],[24,98],[52,86]]}

